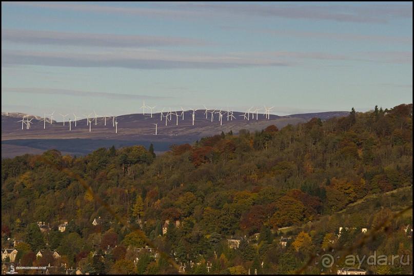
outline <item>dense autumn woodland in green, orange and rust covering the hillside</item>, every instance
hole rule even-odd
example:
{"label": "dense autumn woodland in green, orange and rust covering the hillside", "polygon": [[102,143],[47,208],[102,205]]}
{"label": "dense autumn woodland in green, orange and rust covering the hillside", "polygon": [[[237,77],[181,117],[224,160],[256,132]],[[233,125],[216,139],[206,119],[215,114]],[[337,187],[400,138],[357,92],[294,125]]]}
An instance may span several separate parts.
{"label": "dense autumn woodland in green, orange and rust covering the hillside", "polygon": [[[312,252],[349,246],[362,228],[412,206],[410,186],[412,104],[368,112],[352,108],[346,117],[281,129],[222,132],[192,145],[171,145],[159,156],[152,145],[100,148],[85,157],[48,150],[2,160],[2,248],[21,240],[16,248],[22,266],[66,263],[91,274],[177,273],[171,260],[194,274],[289,273]],[[404,187],[403,193],[347,212],[366,196]],[[92,225],[98,218],[102,223]],[[60,232],[64,221],[69,223]],[[37,222],[51,230],[42,233]],[[410,255],[409,265],[361,268],[412,273],[407,226],[412,228],[411,210],[353,253]],[[338,235],[339,227],[349,229]],[[243,239],[231,249],[227,240],[235,236]],[[291,238],[286,246],[282,236]],[[133,248],[146,245],[165,255],[134,255]],[[62,257],[36,259],[40,249],[56,249]],[[305,273],[321,269],[312,263]]]}

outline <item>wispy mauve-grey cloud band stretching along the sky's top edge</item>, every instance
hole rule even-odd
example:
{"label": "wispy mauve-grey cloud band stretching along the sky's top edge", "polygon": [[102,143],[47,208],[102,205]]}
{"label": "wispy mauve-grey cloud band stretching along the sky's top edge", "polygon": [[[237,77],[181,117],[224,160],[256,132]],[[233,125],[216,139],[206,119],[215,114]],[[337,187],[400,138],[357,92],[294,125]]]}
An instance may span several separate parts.
{"label": "wispy mauve-grey cloud band stretching along the sky's top edge", "polygon": [[[151,18],[169,18],[176,20],[186,19],[246,19],[279,17],[290,19],[324,20],[335,22],[354,23],[388,23],[393,19],[412,18],[412,4],[324,4],[317,3],[151,3],[154,8],[142,7],[109,7],[96,4],[63,3],[63,2],[9,2],[8,5],[24,5],[30,7],[72,10],[79,12],[93,12],[106,14],[122,14],[145,16]],[[2,3],[3,5],[3,3]]]}

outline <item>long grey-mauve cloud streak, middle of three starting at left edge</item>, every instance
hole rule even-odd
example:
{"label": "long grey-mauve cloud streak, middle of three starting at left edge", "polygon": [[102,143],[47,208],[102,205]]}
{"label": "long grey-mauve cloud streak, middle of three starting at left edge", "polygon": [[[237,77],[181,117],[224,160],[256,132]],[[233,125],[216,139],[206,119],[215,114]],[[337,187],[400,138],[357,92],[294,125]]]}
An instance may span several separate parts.
{"label": "long grey-mauve cloud streak, middle of three starting at left edge", "polygon": [[39,52],[2,50],[2,66],[42,65],[64,67],[121,67],[129,69],[218,69],[252,66],[288,66],[290,63],[231,54],[122,50],[93,52]]}

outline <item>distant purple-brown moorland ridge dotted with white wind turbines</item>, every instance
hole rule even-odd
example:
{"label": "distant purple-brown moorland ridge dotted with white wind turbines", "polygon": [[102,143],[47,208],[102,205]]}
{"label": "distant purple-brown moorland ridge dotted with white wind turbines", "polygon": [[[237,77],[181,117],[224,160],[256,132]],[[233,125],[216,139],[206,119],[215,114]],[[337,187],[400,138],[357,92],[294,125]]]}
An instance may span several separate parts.
{"label": "distant purple-brown moorland ridge dotted with white wind turbines", "polygon": [[[182,114],[182,111],[171,111],[152,114],[126,114],[116,117],[115,127],[112,117],[91,118],[91,126],[87,124],[87,119],[69,123],[69,118],[63,122],[54,121],[50,123],[46,116],[34,116],[23,112],[2,112],[2,159],[23,155],[25,153],[38,154],[40,150],[58,149],[65,154],[86,155],[100,147],[125,147],[140,144],[148,147],[153,144],[156,153],[169,150],[173,144],[185,144],[200,140],[202,137],[213,136],[221,132],[238,133],[240,130],[262,130],[269,125],[283,128],[288,124],[298,124],[307,122],[313,117],[327,120],[330,117],[341,117],[349,115],[348,111],[330,111],[320,113],[292,114],[288,116],[278,116],[270,114],[247,114],[236,112],[226,114],[222,112],[222,122],[219,121],[219,114],[206,113],[205,110],[194,112],[194,122],[192,121],[192,111],[184,113],[184,119],[175,114]],[[168,113],[168,117],[166,114]],[[213,121],[211,122],[211,114]],[[254,117],[252,118],[252,115]],[[30,129],[26,128],[25,123],[20,123],[25,116],[32,119]],[[162,119],[162,120],[161,120]],[[167,121],[166,121],[167,120]],[[20,121],[20,122],[18,122]],[[23,129],[22,129],[23,124]],[[69,131],[69,124],[71,130]],[[106,124],[106,125],[105,125]],[[155,126],[156,124],[156,126]],[[157,135],[155,135],[155,127]]]}

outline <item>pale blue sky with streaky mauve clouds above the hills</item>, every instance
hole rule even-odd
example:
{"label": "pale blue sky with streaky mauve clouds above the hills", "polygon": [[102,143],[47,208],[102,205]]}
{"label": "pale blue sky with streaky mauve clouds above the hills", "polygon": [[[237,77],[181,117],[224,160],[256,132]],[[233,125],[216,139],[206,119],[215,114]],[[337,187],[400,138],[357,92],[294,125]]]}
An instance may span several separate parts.
{"label": "pale blue sky with streaky mauve clouds above the hills", "polygon": [[410,103],[412,2],[2,2],[2,112]]}

